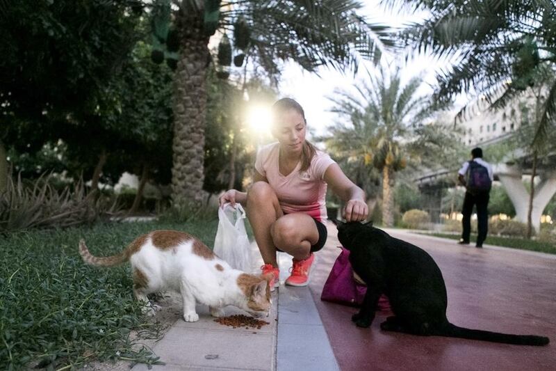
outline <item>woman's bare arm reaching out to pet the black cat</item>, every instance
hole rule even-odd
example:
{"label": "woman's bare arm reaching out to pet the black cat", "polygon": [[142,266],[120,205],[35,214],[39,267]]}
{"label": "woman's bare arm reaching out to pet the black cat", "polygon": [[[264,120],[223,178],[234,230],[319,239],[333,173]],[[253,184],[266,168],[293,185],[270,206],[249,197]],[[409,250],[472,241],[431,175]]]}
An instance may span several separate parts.
{"label": "woman's bare arm reaching out to pet the black cat", "polygon": [[325,171],[325,182],[332,187],[334,194],[345,202],[342,214],[346,221],[367,219],[369,210],[365,202],[365,192],[345,176],[338,164],[328,166]]}

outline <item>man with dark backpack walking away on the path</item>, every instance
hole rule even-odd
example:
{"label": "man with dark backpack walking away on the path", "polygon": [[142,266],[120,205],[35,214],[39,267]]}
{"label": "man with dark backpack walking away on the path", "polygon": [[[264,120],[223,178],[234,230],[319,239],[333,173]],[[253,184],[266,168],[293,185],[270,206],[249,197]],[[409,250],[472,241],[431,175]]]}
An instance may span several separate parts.
{"label": "man with dark backpack walking away on the path", "polygon": [[489,230],[489,197],[492,187],[492,166],[482,159],[482,149],[471,150],[471,161],[466,161],[458,171],[459,184],[466,187],[464,206],[461,214],[461,239],[458,244],[469,244],[471,234],[471,214],[473,206],[477,206],[477,242],[476,247],[482,247],[486,233]]}

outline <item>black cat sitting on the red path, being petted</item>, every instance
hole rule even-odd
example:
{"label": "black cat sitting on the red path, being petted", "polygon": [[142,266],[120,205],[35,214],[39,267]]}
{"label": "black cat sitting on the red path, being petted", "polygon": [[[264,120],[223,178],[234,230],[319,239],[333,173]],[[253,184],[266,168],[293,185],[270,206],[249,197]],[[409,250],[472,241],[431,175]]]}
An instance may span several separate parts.
{"label": "black cat sitting on the red path, being petted", "polygon": [[368,327],[381,294],[390,299],[394,316],[380,324],[384,331],[420,336],[450,336],[517,345],[547,345],[544,336],[511,335],[464,329],[448,322],[448,298],[442,273],[423,249],[391,237],[370,223],[336,221],[338,239],[350,251],[354,271],[368,285],[359,313],[352,321]]}

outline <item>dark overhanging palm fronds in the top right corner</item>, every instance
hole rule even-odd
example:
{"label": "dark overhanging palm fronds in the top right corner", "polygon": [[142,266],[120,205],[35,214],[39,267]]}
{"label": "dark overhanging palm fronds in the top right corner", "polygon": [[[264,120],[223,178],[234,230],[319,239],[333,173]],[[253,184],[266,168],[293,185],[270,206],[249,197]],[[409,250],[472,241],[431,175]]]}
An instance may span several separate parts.
{"label": "dark overhanging palm fronds in the top right corner", "polygon": [[[498,108],[523,90],[543,84],[544,68],[556,68],[554,0],[385,2],[391,8],[427,11],[427,19],[411,24],[401,38],[410,52],[432,53],[452,62],[437,76],[439,100],[451,100],[464,91],[477,93]],[[547,92],[534,145],[556,122],[556,82]]]}

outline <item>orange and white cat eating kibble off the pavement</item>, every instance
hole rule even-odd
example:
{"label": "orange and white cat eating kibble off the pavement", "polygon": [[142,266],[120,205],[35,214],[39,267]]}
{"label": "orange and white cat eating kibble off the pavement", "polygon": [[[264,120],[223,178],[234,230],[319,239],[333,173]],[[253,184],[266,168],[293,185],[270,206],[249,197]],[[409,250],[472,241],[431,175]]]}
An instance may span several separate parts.
{"label": "orange and white cat eating kibble off the pavement", "polygon": [[213,317],[223,315],[224,306],[236,306],[257,317],[270,310],[270,277],[254,276],[231,268],[199,239],[177,230],[155,230],[135,239],[120,254],[98,258],[85,241],[79,253],[90,265],[110,267],[129,260],[133,271],[133,294],[145,301],[147,314],[154,315],[147,294],[174,290],[183,297],[183,319],[195,322],[195,303],[209,306]]}

